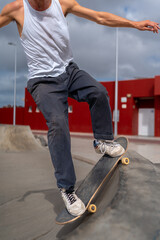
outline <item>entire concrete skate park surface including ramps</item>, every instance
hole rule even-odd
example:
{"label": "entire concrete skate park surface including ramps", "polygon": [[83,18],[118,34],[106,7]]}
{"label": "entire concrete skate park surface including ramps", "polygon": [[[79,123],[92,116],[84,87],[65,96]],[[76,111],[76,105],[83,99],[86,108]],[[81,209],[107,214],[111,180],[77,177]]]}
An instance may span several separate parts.
{"label": "entire concrete skate park surface including ramps", "polygon": [[[64,205],[50,154],[33,137],[46,139],[46,132],[8,128],[0,126],[1,240],[160,240],[160,138],[128,136],[130,164],[119,164],[104,185],[97,212],[61,226],[55,218]],[[76,187],[100,158],[92,141],[91,134],[71,133]]]}

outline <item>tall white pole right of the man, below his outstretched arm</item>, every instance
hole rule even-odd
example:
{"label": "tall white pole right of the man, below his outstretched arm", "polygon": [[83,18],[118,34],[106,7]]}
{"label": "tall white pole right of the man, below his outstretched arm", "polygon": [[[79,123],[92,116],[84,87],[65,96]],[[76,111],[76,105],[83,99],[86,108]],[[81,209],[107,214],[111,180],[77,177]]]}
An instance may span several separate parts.
{"label": "tall white pole right of the man, below his outstretched arm", "polygon": [[115,80],[115,107],[114,107],[114,135],[118,134],[118,28],[116,28],[116,80]]}

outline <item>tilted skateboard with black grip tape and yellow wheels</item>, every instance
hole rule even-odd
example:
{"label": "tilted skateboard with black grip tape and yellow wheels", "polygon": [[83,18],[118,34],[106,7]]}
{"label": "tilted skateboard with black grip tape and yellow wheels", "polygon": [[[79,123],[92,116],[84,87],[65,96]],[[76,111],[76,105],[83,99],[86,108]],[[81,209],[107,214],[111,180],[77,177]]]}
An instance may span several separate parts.
{"label": "tilted skateboard with black grip tape and yellow wheels", "polygon": [[[125,153],[128,148],[128,139],[125,137],[119,137],[115,142],[120,143],[125,149]],[[124,153],[124,154],[125,154]],[[65,208],[57,217],[56,223],[60,225],[68,224],[74,222],[81,218],[87,211],[89,213],[95,213],[97,207],[94,204],[95,198],[98,196],[98,192],[106,182],[110,179],[111,173],[116,168],[118,162],[121,160],[122,164],[129,164],[129,158],[123,157],[110,157],[109,155],[103,155],[100,160],[96,163],[93,169],[89,172],[86,178],[78,187],[76,194],[84,202],[86,206],[86,211],[80,216],[72,216]]]}

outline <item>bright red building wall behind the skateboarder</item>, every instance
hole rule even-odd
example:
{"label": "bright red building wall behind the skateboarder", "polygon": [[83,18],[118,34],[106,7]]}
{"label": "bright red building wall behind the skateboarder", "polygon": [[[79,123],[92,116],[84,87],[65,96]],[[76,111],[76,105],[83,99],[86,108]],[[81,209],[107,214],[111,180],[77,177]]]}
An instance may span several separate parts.
{"label": "bright red building wall behind the skateboarder", "polygon": [[[111,111],[114,110],[114,82],[102,83],[109,94]],[[126,97],[126,108],[122,108],[121,98]],[[160,76],[149,79],[126,80],[118,83],[118,109],[120,118],[118,122],[118,134],[138,135],[138,109],[155,108],[155,136],[160,136]],[[68,105],[72,106],[69,113],[69,126],[72,132],[92,132],[91,117],[87,103],[77,103],[69,98]],[[29,112],[29,107],[32,112]],[[12,124],[13,109],[0,109],[0,123]],[[25,107],[17,108],[17,124],[30,125],[31,129],[47,130],[43,115],[36,112],[36,104],[32,96],[25,90]],[[114,127],[114,123],[113,123]]]}

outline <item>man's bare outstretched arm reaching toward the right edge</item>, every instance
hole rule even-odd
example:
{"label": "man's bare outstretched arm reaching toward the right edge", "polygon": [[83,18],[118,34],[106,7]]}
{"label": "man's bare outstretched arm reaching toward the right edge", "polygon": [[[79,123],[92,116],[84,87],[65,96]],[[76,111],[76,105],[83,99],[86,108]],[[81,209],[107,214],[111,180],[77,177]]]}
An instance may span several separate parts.
{"label": "man's bare outstretched arm reaching toward the right edge", "polygon": [[75,0],[60,0],[63,6],[67,6],[67,13],[72,13],[76,16],[86,18],[98,24],[109,27],[130,27],[141,31],[152,31],[158,33],[159,24],[150,20],[146,21],[131,21],[126,18],[119,17],[108,12],[98,12],[80,6]]}

